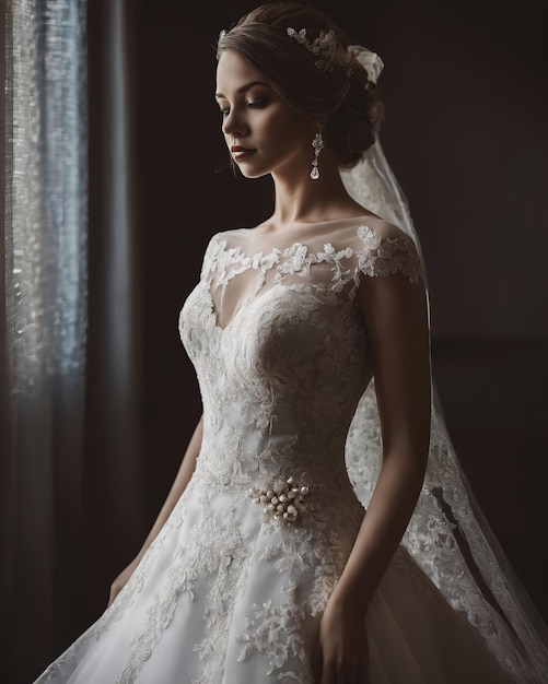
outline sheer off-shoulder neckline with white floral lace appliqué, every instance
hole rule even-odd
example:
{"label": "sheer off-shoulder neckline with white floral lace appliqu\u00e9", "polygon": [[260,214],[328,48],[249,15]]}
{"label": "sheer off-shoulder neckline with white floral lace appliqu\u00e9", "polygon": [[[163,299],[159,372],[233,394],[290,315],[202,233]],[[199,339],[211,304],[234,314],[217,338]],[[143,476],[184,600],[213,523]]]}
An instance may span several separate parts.
{"label": "sheer off-shoulder neckline with white floral lace appliqu\u00e9", "polygon": [[[249,302],[264,290],[267,278],[268,290],[282,283],[291,283],[289,286],[293,288],[295,284],[302,286],[311,271],[320,267],[319,280],[314,278],[308,286],[327,288],[334,295],[348,285],[351,298],[358,287],[357,269],[363,267],[366,271],[368,263],[373,274],[376,271],[387,274],[403,270],[410,280],[420,280],[420,264],[411,266],[413,259],[409,255],[412,246],[416,257],[415,246],[405,233],[396,228],[396,234],[390,231],[392,235],[383,235],[361,223],[359,217],[355,221],[337,219],[324,223],[331,226],[341,222],[350,223],[347,228],[351,229],[351,234],[348,229],[333,231],[330,227],[322,232],[314,224],[313,233],[308,232],[308,235],[306,232],[296,232],[295,235],[295,232],[288,231],[289,238],[299,239],[288,239],[285,245],[272,244],[273,240],[267,245],[257,245],[255,239],[249,239],[249,232],[254,228],[236,228],[217,234],[208,249],[202,273],[215,327],[226,330],[233,319],[248,308]],[[352,260],[355,261],[353,266]],[[270,278],[268,274],[272,271],[275,274]]]}

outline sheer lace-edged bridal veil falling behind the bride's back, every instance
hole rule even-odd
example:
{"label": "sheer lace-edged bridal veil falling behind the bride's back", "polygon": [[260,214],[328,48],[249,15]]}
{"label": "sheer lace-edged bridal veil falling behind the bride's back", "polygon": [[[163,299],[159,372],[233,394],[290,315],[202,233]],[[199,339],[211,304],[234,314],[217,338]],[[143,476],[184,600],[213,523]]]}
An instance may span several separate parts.
{"label": "sheer lace-edged bridal veil falling behind the bride's back", "polygon": [[[352,46],[376,81],[383,62]],[[422,255],[407,200],[378,138],[357,166],[341,170],[349,193],[390,221]],[[403,543],[448,603],[479,630],[516,682],[548,681],[548,630],[515,577],[460,470],[433,388],[429,464]],[[382,459],[374,381],[363,394],[350,427],[347,467],[358,497],[368,506]]]}

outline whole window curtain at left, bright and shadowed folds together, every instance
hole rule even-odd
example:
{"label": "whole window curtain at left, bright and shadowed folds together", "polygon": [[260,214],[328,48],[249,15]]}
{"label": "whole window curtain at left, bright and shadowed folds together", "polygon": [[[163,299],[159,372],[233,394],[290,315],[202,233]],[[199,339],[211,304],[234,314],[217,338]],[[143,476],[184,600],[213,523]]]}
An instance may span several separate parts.
{"label": "whole window curtain at left, bright and shadowed folds together", "polygon": [[84,626],[90,519],[113,518],[113,534],[140,519],[124,8],[93,3],[90,154],[86,0],[0,0],[0,642],[12,684]]}

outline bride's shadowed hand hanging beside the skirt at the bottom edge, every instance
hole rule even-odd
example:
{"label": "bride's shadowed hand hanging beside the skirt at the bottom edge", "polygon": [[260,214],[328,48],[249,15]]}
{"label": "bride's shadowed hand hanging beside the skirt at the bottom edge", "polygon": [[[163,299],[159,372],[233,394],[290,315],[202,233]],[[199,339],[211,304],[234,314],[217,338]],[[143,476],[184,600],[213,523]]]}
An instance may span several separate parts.
{"label": "bride's shadowed hand hanging beside the skirt at the bottom edge", "polygon": [[369,684],[365,611],[334,594],[319,623],[315,653],[317,684]]}

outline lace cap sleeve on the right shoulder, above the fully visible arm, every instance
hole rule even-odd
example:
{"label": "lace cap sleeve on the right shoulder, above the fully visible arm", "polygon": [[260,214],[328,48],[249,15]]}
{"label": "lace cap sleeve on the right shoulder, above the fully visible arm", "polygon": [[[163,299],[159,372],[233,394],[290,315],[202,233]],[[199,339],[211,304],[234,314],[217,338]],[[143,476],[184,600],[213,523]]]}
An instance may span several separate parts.
{"label": "lace cap sleeve on the right shoulder, above the fully visible arm", "polygon": [[405,233],[398,231],[395,237],[390,237],[360,226],[358,237],[363,244],[357,251],[360,273],[380,278],[403,273],[411,283],[424,280],[415,243]]}

